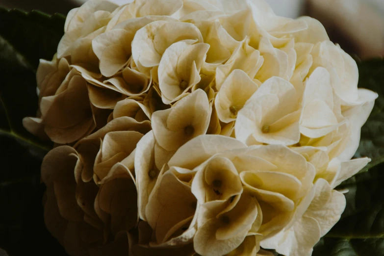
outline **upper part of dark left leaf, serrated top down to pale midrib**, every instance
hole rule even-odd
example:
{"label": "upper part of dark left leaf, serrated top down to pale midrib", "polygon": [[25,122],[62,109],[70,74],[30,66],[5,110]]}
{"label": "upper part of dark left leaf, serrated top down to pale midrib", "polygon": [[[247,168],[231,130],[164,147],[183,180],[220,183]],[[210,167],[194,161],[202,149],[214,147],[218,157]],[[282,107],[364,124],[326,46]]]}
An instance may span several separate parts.
{"label": "upper part of dark left leaf, serrated top down to pale midrib", "polygon": [[22,125],[35,116],[37,92],[35,71],[39,59],[51,59],[64,34],[65,17],[38,11],[0,8],[0,134],[49,149]]}

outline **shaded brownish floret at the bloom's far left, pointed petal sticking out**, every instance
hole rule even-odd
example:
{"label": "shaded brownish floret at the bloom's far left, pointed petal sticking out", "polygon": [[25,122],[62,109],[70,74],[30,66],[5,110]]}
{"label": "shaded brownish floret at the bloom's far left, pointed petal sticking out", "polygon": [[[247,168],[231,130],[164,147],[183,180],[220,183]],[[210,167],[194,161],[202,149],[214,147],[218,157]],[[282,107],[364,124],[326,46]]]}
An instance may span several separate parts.
{"label": "shaded brownish floret at the bloom's far left, pointed petal sticking out", "polygon": [[[41,60],[37,71],[39,112],[37,118],[24,118],[33,134],[56,143],[77,141],[96,128],[98,109],[91,105],[87,83],[66,59]],[[105,122],[104,120],[103,122]]]}

